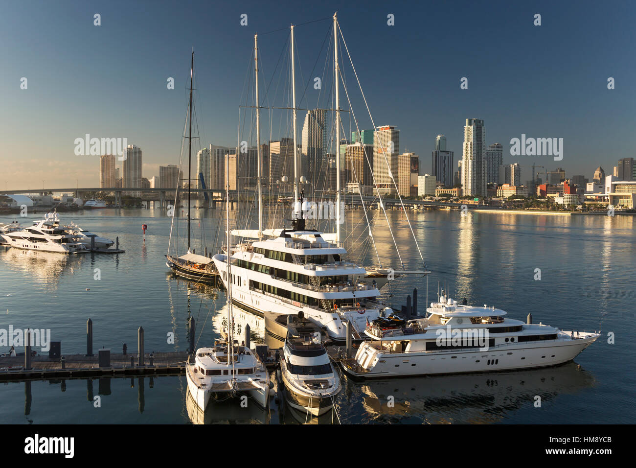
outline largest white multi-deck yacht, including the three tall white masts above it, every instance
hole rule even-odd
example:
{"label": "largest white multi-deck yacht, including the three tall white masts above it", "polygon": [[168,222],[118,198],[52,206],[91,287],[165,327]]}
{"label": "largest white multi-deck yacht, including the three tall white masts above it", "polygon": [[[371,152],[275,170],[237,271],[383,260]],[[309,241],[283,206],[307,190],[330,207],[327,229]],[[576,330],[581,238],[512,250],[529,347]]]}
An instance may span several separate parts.
{"label": "largest white multi-deck yacht, including the three tall white masts above it", "polygon": [[[337,19],[334,22],[335,68],[338,69]],[[256,138],[258,176],[261,173],[259,143],[258,101],[258,43],[254,36],[254,71],[256,73]],[[378,316],[392,315],[390,308],[378,301],[377,285],[366,281],[364,267],[345,260],[347,250],[340,239],[340,223],[336,224],[335,242],[324,239],[322,232],[307,229],[307,200],[299,188],[304,176],[298,174],[298,145],[296,138],[296,86],[294,80],[294,26],[291,26],[291,76],[293,98],[294,133],[294,208],[291,227],[269,230],[264,236],[262,221],[262,194],[259,180],[258,232],[234,230],[232,234],[252,237],[233,248],[227,254],[214,255],[213,259],[226,290],[232,292],[233,303],[256,315],[266,312],[296,315],[299,311],[319,327],[329,339],[343,342],[347,329],[354,339],[365,339],[366,324]],[[340,139],[340,108],[336,73],[336,141]],[[336,172],[340,174],[340,145],[336,145]],[[336,177],[336,220],[340,220],[340,177]],[[228,236],[229,236],[228,232]],[[230,242],[228,240],[228,245]],[[232,259],[232,275],[226,274],[228,256]]]}

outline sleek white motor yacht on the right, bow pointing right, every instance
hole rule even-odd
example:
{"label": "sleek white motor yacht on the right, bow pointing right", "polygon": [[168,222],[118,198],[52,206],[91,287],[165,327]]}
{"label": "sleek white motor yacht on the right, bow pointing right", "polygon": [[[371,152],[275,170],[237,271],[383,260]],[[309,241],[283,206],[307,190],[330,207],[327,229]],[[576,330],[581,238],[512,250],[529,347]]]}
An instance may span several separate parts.
{"label": "sleek white motor yacht on the right, bow pointing right", "polygon": [[562,364],[590,346],[599,332],[562,331],[504,318],[493,306],[460,305],[441,296],[428,316],[377,319],[356,357],[342,361],[354,378],[508,371]]}

